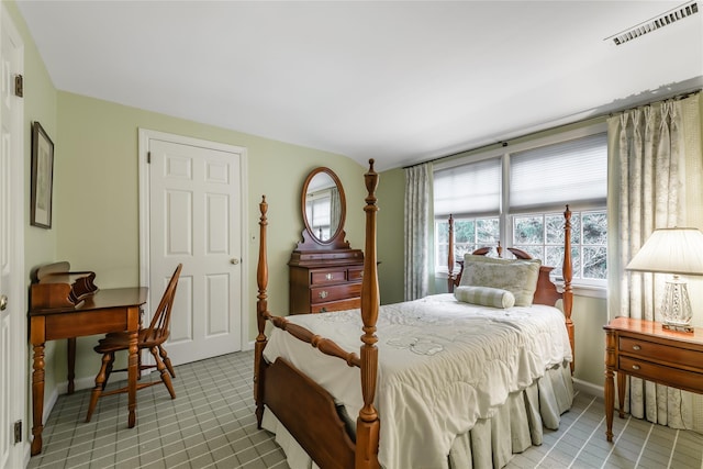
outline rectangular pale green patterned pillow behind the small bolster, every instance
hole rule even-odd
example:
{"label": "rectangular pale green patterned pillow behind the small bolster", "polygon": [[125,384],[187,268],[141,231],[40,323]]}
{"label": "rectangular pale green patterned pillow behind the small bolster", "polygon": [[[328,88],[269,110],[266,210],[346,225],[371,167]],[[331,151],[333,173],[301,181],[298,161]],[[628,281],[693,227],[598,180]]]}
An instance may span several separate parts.
{"label": "rectangular pale green patterned pillow behind the small bolster", "polygon": [[464,273],[459,286],[507,290],[515,297],[515,306],[529,306],[540,266],[539,259],[496,259],[467,254],[464,256]]}

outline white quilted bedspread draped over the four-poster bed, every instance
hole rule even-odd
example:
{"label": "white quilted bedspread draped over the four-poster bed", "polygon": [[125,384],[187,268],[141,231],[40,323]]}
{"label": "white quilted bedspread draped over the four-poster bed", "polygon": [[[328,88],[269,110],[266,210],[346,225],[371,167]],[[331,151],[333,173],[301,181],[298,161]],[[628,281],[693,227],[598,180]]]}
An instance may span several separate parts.
{"label": "white quilted bedspread draped over the four-poster bed", "polygon": [[[358,310],[288,320],[358,355]],[[571,360],[563,314],[551,306],[498,310],[437,294],[381,306],[377,327],[379,462],[389,469],[446,468],[456,435],[492,416],[510,392],[526,388],[550,366]],[[280,330],[264,355],[269,361],[286,357],[353,418],[358,415],[358,368]]]}

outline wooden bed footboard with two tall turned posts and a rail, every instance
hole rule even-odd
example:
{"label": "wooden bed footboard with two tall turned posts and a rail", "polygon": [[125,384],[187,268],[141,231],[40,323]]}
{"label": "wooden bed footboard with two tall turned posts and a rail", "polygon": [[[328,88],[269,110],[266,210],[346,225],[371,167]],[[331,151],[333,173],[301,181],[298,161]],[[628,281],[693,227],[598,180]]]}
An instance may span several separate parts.
{"label": "wooden bed footboard with two tall turned posts and a rail", "polygon": [[[268,220],[266,198],[259,209],[260,242],[257,266],[257,328],[254,357],[254,398],[256,417],[261,427],[264,407],[268,407],[295,438],[312,459],[323,468],[378,469],[379,416],[373,400],[378,369],[376,321],[379,309],[378,272],[376,270],[376,188],[378,174],[373,160],[364,175],[368,190],[366,198],[366,256],[361,282],[361,336],[360,357],[339,348],[334,342],[316,336],[304,327],[289,323],[284,317],[268,312],[268,261],[266,256],[266,228]],[[364,406],[356,422],[356,442],[353,442],[345,421],[337,414],[332,395],[320,384],[302,373],[289,361],[278,358],[268,364],[264,348],[268,343],[266,323],[287,331],[298,339],[309,343],[325,355],[342,358],[348,366],[359,367]]]}

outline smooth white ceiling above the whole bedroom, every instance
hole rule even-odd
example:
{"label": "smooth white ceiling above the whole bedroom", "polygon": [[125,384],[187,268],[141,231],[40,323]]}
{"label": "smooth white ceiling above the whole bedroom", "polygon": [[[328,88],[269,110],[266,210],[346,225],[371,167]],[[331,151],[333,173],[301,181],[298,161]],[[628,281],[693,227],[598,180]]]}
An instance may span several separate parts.
{"label": "smooth white ceiling above the whole bedroom", "polygon": [[703,12],[606,40],[680,0],[16,3],[59,90],[380,170],[703,86]]}

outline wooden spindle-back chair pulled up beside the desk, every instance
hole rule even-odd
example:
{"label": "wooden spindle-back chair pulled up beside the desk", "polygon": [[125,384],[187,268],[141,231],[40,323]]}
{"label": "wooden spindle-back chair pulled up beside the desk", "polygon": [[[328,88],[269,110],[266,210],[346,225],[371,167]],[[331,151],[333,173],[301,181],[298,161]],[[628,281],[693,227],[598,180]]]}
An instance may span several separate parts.
{"label": "wooden spindle-back chair pulled up beside the desk", "polygon": [[[168,389],[168,392],[171,395],[171,399],[176,399],[176,392],[174,392],[174,384],[171,383],[171,377],[176,378],[176,373],[174,372],[174,367],[171,366],[171,360],[168,358],[166,354],[166,349],[164,349],[164,342],[168,338],[169,335],[169,326],[171,319],[171,309],[174,306],[174,299],[176,297],[176,287],[178,286],[178,278],[180,277],[180,271],[182,269],[182,265],[179,264],[176,268],[176,271],[171,276],[168,286],[166,287],[166,291],[164,292],[164,297],[161,297],[161,301],[158,304],[158,308],[154,312],[154,317],[152,317],[152,323],[147,328],[140,328],[140,335],[137,338],[137,355],[140,357],[140,371],[147,368],[156,368],[160,372],[161,382]],[[116,332],[110,333],[105,335],[104,338],[100,339],[98,345],[93,348],[98,354],[102,354],[102,366],[100,367],[100,371],[96,377],[96,387],[92,390],[92,394],[90,395],[90,405],[88,407],[88,415],[86,416],[86,422],[90,422],[90,417],[92,416],[93,411],[96,410],[96,405],[98,405],[98,399],[104,395],[116,394],[120,392],[126,392],[127,387],[123,387],[120,389],[105,391],[105,386],[108,384],[108,379],[112,372],[118,371],[126,371],[126,368],[113,370],[112,366],[114,364],[114,354],[120,350],[127,350],[130,348],[130,336],[126,332]],[[148,349],[156,361],[156,365],[142,365],[142,350]],[[143,388],[147,388],[149,386],[158,384],[159,381],[152,382],[140,382],[137,383],[137,391]]]}

